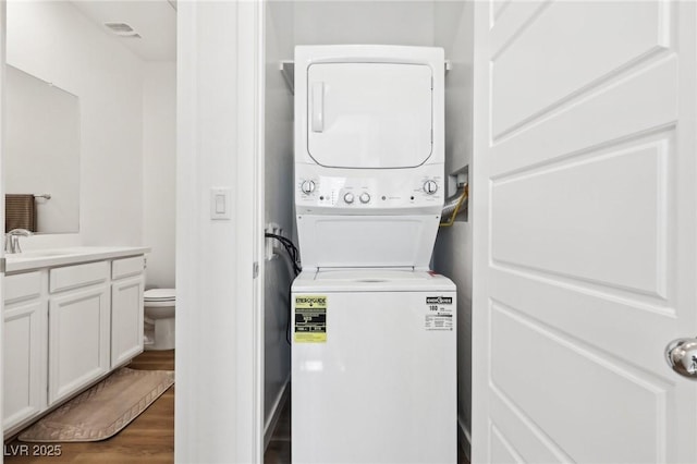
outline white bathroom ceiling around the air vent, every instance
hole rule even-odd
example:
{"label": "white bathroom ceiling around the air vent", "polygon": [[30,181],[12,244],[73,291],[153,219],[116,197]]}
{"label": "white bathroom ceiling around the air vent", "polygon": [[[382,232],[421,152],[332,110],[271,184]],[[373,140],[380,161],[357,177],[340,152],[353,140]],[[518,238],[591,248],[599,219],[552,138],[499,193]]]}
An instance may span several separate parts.
{"label": "white bathroom ceiling around the air vent", "polygon": [[[145,61],[176,60],[176,3],[172,0],[75,0],[73,4]],[[125,23],[140,37],[114,34],[105,23]]]}

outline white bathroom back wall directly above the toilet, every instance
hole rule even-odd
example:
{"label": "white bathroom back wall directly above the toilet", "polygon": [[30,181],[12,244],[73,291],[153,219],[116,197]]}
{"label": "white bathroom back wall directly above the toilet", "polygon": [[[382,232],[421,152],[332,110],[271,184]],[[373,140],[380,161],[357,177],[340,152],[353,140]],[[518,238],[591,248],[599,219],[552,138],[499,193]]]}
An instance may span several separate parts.
{"label": "white bathroom back wall directly above the toilet", "polygon": [[144,243],[147,288],[174,286],[176,63],[146,62],[143,84]]}

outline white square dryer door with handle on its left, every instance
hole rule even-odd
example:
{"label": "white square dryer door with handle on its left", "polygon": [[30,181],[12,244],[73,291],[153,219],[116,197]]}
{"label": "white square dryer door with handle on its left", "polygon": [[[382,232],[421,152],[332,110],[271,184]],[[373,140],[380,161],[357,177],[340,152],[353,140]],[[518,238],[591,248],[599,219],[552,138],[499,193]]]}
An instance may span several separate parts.
{"label": "white square dryer door with handle on its left", "polygon": [[424,64],[311,64],[309,156],[331,168],[423,164],[432,149],[431,76]]}

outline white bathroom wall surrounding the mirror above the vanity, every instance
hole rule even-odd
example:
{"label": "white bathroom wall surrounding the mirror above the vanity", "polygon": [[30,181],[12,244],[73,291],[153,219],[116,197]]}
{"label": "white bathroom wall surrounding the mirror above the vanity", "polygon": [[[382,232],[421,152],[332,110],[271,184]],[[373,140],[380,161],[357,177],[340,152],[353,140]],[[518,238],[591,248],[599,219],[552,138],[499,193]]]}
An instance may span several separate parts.
{"label": "white bathroom wall surrounding the mirror above the vanity", "polygon": [[81,108],[80,233],[23,246],[142,245],[143,62],[70,2],[11,2],[7,34],[8,63],[76,95]]}

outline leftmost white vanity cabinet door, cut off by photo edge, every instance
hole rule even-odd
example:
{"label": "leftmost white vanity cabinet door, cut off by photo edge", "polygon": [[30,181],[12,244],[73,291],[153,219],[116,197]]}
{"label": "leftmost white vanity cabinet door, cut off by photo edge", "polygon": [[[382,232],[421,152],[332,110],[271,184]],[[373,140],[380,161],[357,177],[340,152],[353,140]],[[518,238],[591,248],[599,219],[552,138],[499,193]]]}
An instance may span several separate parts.
{"label": "leftmost white vanity cabinet door, cut off by photo edge", "polygon": [[4,310],[3,410],[5,430],[46,407],[46,301]]}

